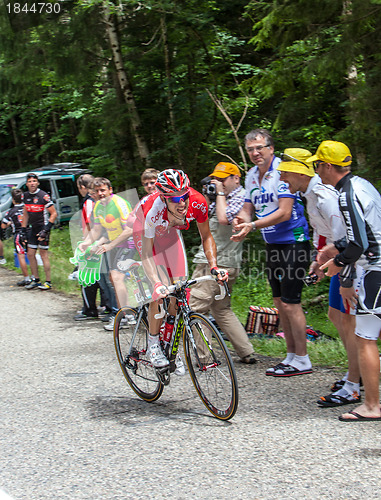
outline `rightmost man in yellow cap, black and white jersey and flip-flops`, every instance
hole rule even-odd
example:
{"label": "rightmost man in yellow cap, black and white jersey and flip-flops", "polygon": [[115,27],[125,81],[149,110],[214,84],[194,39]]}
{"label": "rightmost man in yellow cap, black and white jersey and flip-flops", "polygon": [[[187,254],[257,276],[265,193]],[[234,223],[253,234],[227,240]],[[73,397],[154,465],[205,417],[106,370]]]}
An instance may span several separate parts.
{"label": "rightmost man in yellow cap, black and white jersey and flip-flops", "polygon": [[[346,225],[346,240],[323,248],[320,269],[327,276],[340,272],[340,293],[345,305],[356,305],[356,341],[365,401],[339,417],[343,422],[381,420],[377,339],[381,332],[381,196],[374,186],[350,171],[349,148],[324,141],[310,158],[324,184],[340,193],[339,207]],[[358,294],[353,287],[355,263],[365,270]]]}

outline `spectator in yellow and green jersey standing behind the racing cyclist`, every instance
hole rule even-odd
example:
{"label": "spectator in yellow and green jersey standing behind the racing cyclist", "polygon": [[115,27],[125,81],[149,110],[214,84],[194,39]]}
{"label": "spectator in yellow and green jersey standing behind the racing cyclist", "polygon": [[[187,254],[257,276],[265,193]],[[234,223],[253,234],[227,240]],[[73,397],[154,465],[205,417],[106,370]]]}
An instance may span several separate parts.
{"label": "spectator in yellow and green jersey standing behind the racing cyclist", "polygon": [[[86,236],[83,243],[79,245],[81,252],[97,241],[105,229],[109,241],[100,242],[94,248],[95,253],[100,255],[107,253],[107,261],[110,266],[110,280],[114,286],[118,307],[127,305],[128,294],[124,285],[124,273],[120,272],[117,264],[129,254],[128,238],[132,235],[132,229],[127,226],[127,218],[131,212],[130,204],[120,196],[113,193],[111,183],[104,177],[96,177],[93,188],[99,196],[94,207],[94,226]],[[110,317],[106,330],[112,330],[115,316]]]}

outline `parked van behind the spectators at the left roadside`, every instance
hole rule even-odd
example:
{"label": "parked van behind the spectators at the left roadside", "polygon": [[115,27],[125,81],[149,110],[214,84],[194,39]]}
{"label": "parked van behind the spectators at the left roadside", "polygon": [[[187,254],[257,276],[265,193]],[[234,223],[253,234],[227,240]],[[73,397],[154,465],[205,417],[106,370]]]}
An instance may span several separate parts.
{"label": "parked van behind the spectators at the left roadside", "polygon": [[0,175],[1,219],[12,206],[11,190],[19,188],[26,191],[26,176],[31,172],[38,176],[39,187],[52,198],[58,214],[56,224],[69,221],[79,210],[76,179],[81,174],[89,172],[79,163],[54,163],[28,172]]}

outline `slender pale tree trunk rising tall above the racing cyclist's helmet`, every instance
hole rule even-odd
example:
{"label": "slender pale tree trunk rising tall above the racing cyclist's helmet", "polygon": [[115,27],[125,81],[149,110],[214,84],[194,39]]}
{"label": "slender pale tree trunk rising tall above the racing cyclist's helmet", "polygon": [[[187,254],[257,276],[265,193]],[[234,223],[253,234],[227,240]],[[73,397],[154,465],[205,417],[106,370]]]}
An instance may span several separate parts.
{"label": "slender pale tree trunk rising tall above the racing cyclist's helmet", "polygon": [[110,13],[109,3],[105,1],[103,3],[103,13],[104,20],[106,23],[107,36],[109,38],[112,58],[115,65],[116,74],[118,77],[118,82],[122,90],[123,98],[127,104],[127,109],[130,114],[131,128],[136,141],[136,146],[138,149],[139,157],[145,167],[150,165],[149,150],[144,137],[141,134],[141,121],[132,93],[131,84],[127,77],[126,70],[123,64],[123,58],[121,53],[121,47],[119,43],[119,37],[117,32],[117,15]]}

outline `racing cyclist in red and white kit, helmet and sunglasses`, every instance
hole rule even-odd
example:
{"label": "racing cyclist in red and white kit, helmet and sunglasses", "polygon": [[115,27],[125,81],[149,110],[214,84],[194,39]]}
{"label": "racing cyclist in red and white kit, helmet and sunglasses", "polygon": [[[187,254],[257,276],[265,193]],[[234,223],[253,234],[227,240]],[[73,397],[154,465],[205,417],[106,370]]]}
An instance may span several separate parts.
{"label": "racing cyclist in red and white kit, helmet and sunglasses", "polygon": [[[155,315],[159,312],[160,299],[168,294],[166,285],[188,274],[180,230],[189,229],[190,222],[195,220],[211,273],[219,282],[227,281],[228,275],[217,267],[217,250],[209,228],[207,202],[201,193],[190,187],[188,176],[182,170],[164,170],[158,175],[156,188],[157,191],[149,195],[137,211],[134,240],[154,289],[148,313],[148,356],[155,367],[161,368],[169,361],[160,346],[162,320],[156,319]],[[175,304],[170,304],[168,313],[175,314]]]}

